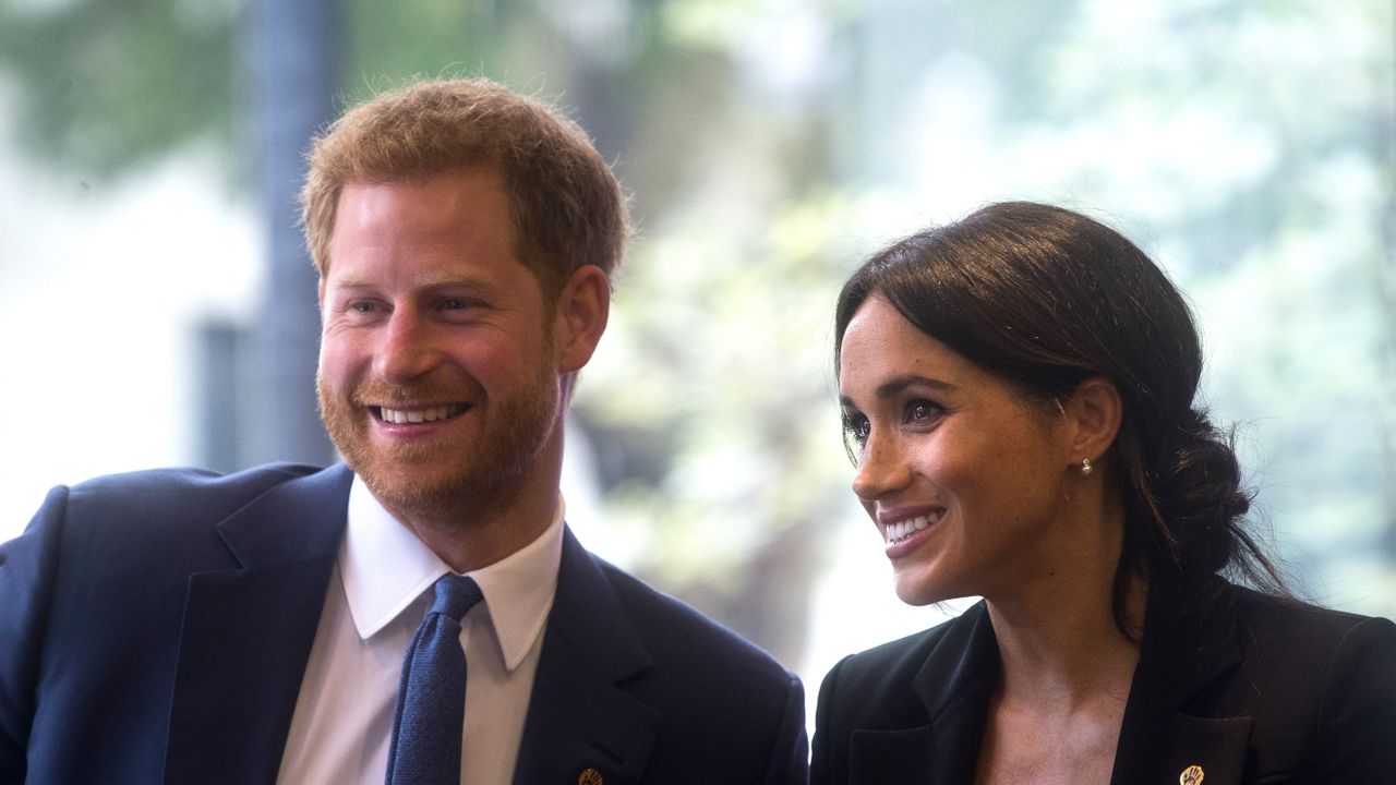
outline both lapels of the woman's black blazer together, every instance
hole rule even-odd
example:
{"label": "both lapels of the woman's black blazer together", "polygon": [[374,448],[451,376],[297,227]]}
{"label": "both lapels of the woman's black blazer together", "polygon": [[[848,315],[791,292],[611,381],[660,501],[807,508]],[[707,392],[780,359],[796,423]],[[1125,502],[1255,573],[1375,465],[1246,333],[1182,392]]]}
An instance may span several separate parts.
{"label": "both lapels of the woman's black blazer together", "polygon": [[[1150,589],[1111,785],[1174,785],[1189,765],[1202,767],[1208,785],[1241,782],[1252,719],[1187,711],[1240,665],[1234,596],[1217,577],[1195,588],[1164,580]],[[998,662],[998,640],[980,602],[949,623],[912,683],[927,724],[854,731],[849,781],[972,782]]]}

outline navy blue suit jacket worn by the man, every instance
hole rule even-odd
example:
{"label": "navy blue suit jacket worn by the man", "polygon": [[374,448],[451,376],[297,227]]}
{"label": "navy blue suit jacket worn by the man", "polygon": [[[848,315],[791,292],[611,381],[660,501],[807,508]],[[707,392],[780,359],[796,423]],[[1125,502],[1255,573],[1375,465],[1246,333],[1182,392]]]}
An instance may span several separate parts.
{"label": "navy blue suit jacket worn by the man", "polygon": [[[0,782],[274,782],[350,472],[54,489],[0,545]],[[800,682],[571,532],[515,782],[796,784]]]}

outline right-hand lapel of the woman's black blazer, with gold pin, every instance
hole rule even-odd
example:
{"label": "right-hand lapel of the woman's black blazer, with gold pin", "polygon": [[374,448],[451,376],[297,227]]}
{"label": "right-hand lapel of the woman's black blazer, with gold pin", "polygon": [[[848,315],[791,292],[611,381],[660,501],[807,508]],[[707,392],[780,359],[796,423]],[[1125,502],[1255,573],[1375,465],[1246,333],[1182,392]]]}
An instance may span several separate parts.
{"label": "right-hand lapel of the woman's black blazer, with gold pin", "polygon": [[1111,785],[1174,785],[1191,767],[1201,770],[1206,785],[1241,782],[1252,718],[1187,711],[1241,663],[1228,588],[1215,577],[1188,596],[1168,581],[1150,587]]}

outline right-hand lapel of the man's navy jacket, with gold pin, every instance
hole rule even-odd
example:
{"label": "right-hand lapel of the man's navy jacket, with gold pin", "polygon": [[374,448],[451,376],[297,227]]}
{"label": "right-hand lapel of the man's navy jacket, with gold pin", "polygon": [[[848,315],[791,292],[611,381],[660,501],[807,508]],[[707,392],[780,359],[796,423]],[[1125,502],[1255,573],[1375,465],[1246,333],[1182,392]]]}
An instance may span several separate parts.
{"label": "right-hand lapel of the man's navy jacket, with gold pin", "polygon": [[618,683],[651,666],[602,567],[567,531],[514,782],[572,784],[589,768],[607,785],[638,782],[660,718]]}

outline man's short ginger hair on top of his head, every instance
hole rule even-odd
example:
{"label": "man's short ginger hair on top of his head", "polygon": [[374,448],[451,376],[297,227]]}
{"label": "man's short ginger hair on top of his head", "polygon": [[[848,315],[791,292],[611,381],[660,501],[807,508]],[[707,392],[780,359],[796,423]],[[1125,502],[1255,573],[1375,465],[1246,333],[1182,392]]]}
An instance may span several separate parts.
{"label": "man's short ginger hair on top of his head", "polygon": [[508,189],[519,258],[551,300],[571,272],[620,264],[630,217],[620,184],[575,123],[487,80],[423,81],[345,113],[314,141],[302,222],[321,278],[348,183],[391,183],[496,168]]}

